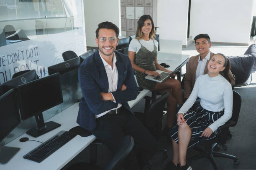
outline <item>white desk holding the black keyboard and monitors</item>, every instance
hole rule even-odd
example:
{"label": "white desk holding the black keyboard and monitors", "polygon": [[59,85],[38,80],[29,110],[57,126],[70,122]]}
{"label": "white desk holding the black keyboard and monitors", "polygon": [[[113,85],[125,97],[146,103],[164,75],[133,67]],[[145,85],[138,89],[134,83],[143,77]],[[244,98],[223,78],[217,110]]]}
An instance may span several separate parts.
{"label": "white desk holding the black keyboard and monitors", "polygon": [[[141,100],[149,90],[143,90],[140,92],[138,97],[135,100],[128,102],[130,107],[133,107],[139,100]],[[88,137],[81,137],[77,135],[64,146],[56,150],[48,158],[43,160],[41,163],[36,163],[32,160],[27,160],[23,158],[23,155],[26,155],[28,152],[41,145],[39,142],[30,141],[38,140],[40,142],[45,142],[56,133],[61,130],[69,131],[69,129],[78,126],[77,114],[78,114],[79,105],[78,103],[68,107],[66,110],[60,112],[59,114],[51,117],[47,121],[54,121],[61,124],[59,128],[56,128],[44,135],[39,136],[38,138],[33,138],[28,134],[23,134],[12,142],[8,143],[5,146],[18,147],[20,150],[18,153],[5,165],[0,165],[0,170],[59,170],[64,165],[69,163],[77,154],[79,154],[84,148],[86,148],[93,140],[96,139],[94,135]],[[46,121],[46,122],[47,122]],[[30,140],[24,143],[19,141],[20,138],[28,137]]]}

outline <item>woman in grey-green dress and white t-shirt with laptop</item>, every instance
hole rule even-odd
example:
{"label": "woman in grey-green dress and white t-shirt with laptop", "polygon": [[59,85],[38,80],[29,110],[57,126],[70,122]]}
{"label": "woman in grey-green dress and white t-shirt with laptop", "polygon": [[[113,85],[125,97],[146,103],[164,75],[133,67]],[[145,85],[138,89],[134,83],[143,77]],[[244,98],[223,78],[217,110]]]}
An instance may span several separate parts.
{"label": "woman in grey-green dress and white t-shirt with laptop", "polygon": [[154,40],[154,23],[150,15],[143,15],[138,20],[136,38],[131,40],[128,57],[131,60],[133,70],[136,71],[138,85],[144,89],[158,91],[160,93],[169,92],[167,99],[167,127],[172,128],[176,105],[183,105],[180,82],[169,78],[162,83],[146,80],[146,75],[160,75],[156,70],[171,73],[157,63],[158,42]]}

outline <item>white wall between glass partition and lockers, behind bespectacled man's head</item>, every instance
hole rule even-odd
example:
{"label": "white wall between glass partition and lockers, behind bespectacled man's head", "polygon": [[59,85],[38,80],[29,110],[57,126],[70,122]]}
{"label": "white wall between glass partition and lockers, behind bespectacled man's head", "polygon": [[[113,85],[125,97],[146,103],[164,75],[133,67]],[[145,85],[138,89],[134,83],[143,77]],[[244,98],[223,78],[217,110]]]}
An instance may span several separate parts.
{"label": "white wall between glass partition and lockers, behind bespectacled man's head", "polygon": [[120,0],[84,0],[84,18],[87,46],[97,47],[95,30],[104,21],[117,25],[121,35]]}

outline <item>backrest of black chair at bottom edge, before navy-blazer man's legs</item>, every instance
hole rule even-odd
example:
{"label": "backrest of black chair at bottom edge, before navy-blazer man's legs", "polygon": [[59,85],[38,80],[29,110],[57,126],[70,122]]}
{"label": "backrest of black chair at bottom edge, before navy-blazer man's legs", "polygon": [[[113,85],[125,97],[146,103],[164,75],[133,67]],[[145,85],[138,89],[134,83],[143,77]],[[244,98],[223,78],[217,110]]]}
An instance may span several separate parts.
{"label": "backrest of black chair at bottom edge, before navy-blazer man's legs", "polygon": [[120,150],[118,150],[118,152],[115,153],[115,155],[113,155],[105,170],[120,170],[121,166],[125,161],[126,156],[131,152],[133,145],[133,137],[125,136],[120,147]]}

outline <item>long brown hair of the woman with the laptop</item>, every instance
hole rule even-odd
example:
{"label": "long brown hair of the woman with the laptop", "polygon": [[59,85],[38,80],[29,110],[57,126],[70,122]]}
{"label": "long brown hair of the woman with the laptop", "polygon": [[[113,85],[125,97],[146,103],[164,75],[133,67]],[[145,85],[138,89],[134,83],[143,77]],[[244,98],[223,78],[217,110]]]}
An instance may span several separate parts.
{"label": "long brown hair of the woman with the laptop", "polygon": [[142,15],[141,18],[138,20],[138,26],[137,26],[137,30],[136,30],[136,38],[138,40],[140,40],[143,36],[143,32],[141,31],[141,28],[143,27],[144,22],[148,19],[151,21],[151,26],[152,26],[152,29],[149,33],[149,38],[153,39],[155,36],[156,30],[155,30],[155,26],[154,26],[151,16],[150,15]]}

